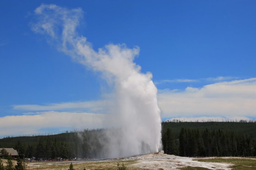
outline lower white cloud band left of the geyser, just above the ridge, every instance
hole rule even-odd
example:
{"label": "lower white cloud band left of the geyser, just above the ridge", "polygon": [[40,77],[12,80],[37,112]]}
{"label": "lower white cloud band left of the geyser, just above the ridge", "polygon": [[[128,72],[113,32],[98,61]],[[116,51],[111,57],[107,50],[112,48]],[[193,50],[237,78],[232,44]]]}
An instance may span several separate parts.
{"label": "lower white cloud band left of the geyser, just above the ridge", "polygon": [[[32,113],[30,113],[32,114]],[[33,115],[0,117],[0,136],[37,134],[40,129],[102,128],[104,114],[75,112],[37,112]]]}

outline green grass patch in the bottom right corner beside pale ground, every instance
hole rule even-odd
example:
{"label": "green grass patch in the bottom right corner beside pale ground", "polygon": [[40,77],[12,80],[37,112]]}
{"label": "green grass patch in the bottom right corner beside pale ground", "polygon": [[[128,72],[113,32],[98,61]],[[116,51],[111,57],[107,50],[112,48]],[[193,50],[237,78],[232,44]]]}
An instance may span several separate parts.
{"label": "green grass patch in the bottom right corner beside pale ground", "polygon": [[256,170],[256,160],[250,158],[213,158],[213,159],[194,159],[200,162],[219,162],[233,164],[234,170]]}

